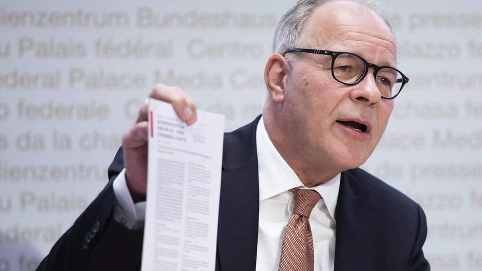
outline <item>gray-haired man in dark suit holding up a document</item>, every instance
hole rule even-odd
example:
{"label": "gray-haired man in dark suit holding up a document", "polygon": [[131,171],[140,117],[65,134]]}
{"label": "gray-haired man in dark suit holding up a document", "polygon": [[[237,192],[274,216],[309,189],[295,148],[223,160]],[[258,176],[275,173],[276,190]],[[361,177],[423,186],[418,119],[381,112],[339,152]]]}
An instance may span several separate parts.
{"label": "gray-haired man in dark suit holding up a document", "polygon": [[[386,18],[375,10],[359,1],[301,0],[281,19],[265,68],[263,115],[224,137],[216,270],[282,270],[280,261],[294,253],[285,253],[283,241],[293,195],[307,188],[321,197],[306,216],[313,245],[306,258],[290,260],[314,270],[430,269],[420,206],[357,168],[408,82],[395,68]],[[150,97],[170,102],[187,124],[196,121],[181,89],[156,85]],[[39,269],[139,268],[143,203],[130,196],[146,195],[146,121],[144,106],[124,134],[110,182]]]}

